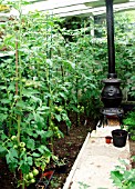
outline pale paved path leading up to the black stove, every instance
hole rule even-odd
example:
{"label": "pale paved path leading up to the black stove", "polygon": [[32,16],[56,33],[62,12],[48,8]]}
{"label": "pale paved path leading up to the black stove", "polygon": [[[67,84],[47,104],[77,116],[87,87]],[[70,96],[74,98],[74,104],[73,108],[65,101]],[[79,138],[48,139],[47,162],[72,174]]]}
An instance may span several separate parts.
{"label": "pale paved path leading up to the black stove", "polygon": [[120,159],[129,163],[129,143],[123,148],[105,143],[105,136],[118,127],[96,128],[87,137],[66,178],[63,189],[115,189],[111,170],[120,165]]}

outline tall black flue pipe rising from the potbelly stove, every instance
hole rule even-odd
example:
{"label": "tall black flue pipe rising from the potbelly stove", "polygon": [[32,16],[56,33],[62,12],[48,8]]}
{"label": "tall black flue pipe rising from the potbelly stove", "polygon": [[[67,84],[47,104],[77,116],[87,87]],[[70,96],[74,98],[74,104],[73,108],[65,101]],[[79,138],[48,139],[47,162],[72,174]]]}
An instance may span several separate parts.
{"label": "tall black flue pipe rising from the potbelly stove", "polygon": [[115,73],[115,47],[114,47],[114,16],[113,0],[106,0],[106,24],[107,24],[107,51],[108,51],[108,76],[116,78]]}

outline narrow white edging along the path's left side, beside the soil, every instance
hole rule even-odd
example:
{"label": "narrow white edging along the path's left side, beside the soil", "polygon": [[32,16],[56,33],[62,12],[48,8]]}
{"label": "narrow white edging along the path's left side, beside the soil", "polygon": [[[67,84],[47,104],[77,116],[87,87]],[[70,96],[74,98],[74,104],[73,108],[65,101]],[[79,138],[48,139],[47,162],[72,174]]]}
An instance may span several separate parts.
{"label": "narrow white edging along the path's left side, beside the soil", "polygon": [[87,136],[86,136],[86,138],[85,138],[85,141],[84,141],[84,143],[83,143],[83,146],[82,146],[82,148],[81,148],[81,150],[80,150],[80,153],[77,155],[76,160],[75,160],[75,162],[74,162],[74,165],[73,165],[73,167],[72,167],[72,169],[71,169],[71,171],[70,171],[70,175],[68,176],[68,178],[66,178],[66,180],[65,180],[65,183],[64,183],[64,186],[63,186],[62,189],[70,189],[70,186],[72,185],[72,183],[71,183],[71,180],[72,180],[72,178],[73,178],[73,176],[74,176],[74,173],[75,173],[77,163],[79,163],[80,158],[81,158],[81,156],[82,156],[82,153],[83,153],[83,151],[84,151],[84,149],[85,149],[85,146],[86,146],[87,141],[89,141],[89,138],[90,138],[90,132],[87,133]]}

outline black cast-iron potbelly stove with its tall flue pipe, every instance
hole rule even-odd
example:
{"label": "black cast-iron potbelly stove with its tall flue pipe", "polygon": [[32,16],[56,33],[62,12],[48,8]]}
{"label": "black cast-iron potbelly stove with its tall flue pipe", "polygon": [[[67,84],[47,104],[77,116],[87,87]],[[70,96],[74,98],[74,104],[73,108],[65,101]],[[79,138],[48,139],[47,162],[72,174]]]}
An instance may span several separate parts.
{"label": "black cast-iron potbelly stove with its tall flue pipe", "polygon": [[106,0],[106,24],[107,24],[107,49],[108,49],[108,76],[102,82],[104,88],[101,93],[101,100],[104,108],[101,110],[104,119],[110,116],[123,117],[121,79],[115,72],[115,46],[114,46],[114,17],[113,0]]}

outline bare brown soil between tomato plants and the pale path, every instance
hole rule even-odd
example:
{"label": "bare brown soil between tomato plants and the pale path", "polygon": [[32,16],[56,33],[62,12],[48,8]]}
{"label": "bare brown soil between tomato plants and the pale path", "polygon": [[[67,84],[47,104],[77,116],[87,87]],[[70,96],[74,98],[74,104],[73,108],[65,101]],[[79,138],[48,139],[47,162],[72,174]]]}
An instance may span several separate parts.
{"label": "bare brown soil between tomato plants and the pale path", "polygon": [[[54,142],[54,152],[61,159],[68,160],[68,167],[65,173],[54,173],[53,180],[49,189],[61,189],[65,179],[81,150],[81,147],[87,136],[87,132],[96,127],[96,121],[87,120],[86,126],[81,123],[81,126],[72,126],[70,135],[65,135],[63,139],[56,140]],[[63,132],[65,132],[63,130]],[[55,185],[55,186],[54,186]]]}

